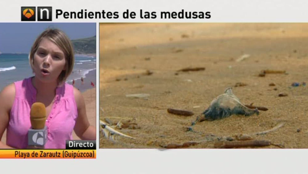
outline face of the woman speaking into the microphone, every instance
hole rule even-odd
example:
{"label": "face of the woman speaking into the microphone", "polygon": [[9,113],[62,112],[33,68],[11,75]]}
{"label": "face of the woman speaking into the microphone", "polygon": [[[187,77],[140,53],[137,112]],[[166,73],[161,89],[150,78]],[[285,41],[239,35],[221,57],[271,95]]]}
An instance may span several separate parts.
{"label": "face of the woman speaking into the microphone", "polygon": [[35,77],[42,82],[57,82],[60,73],[65,70],[63,51],[47,38],[39,43],[33,59]]}

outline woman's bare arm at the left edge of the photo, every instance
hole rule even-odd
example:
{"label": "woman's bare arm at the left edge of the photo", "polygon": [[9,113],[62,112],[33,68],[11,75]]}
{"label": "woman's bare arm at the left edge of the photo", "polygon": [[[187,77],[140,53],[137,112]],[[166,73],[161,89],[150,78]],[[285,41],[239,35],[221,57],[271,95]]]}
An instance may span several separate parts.
{"label": "woman's bare arm at the left edge of the photo", "polygon": [[[7,125],[9,124],[10,111],[13,106],[14,98],[15,98],[14,83],[6,86],[0,92],[0,140],[2,139],[3,133],[6,130]],[[0,149],[13,149],[13,148],[0,141]]]}

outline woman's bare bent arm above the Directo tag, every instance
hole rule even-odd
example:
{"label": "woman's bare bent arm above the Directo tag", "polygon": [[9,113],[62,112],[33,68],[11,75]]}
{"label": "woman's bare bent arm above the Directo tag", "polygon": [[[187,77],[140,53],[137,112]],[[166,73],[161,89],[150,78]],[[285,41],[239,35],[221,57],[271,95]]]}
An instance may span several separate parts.
{"label": "woman's bare bent arm above the Directo tag", "polygon": [[74,87],[74,96],[77,105],[78,117],[74,131],[82,140],[96,140],[96,130],[91,126],[87,118],[86,106],[82,94]]}

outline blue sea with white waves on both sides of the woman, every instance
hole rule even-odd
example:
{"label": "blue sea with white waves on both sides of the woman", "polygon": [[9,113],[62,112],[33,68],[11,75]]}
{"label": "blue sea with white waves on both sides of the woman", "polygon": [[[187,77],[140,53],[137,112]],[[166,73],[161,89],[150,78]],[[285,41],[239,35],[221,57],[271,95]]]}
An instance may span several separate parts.
{"label": "blue sea with white waves on both sides of the woman", "polygon": [[[10,83],[34,76],[28,57],[29,54],[0,54],[0,91]],[[81,77],[86,78],[87,74],[95,69],[94,56],[75,55],[73,72],[67,78],[67,82],[81,79]]]}

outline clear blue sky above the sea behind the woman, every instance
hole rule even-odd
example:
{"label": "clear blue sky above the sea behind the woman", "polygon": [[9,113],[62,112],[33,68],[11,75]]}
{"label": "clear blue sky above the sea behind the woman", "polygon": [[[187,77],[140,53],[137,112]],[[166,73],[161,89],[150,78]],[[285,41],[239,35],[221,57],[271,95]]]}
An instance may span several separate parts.
{"label": "clear blue sky above the sea behind the woman", "polygon": [[96,23],[0,23],[0,52],[29,53],[36,37],[49,27],[61,29],[71,40],[96,35]]}

